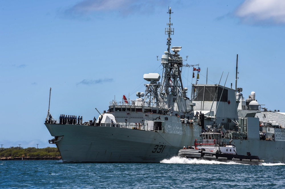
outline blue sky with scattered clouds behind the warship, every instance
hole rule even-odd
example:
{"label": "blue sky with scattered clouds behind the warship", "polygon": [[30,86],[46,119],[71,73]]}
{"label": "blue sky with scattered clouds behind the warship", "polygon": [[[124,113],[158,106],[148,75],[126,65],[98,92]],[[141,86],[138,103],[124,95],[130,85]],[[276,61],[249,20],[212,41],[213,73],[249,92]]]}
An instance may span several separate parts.
{"label": "blue sky with scattered clouds behind the warship", "polygon": [[[68,0],[0,3],[0,143],[47,146],[50,113],[93,119],[109,101],[144,92],[145,73],[160,73],[169,15],[172,46],[199,64],[198,83],[235,85],[268,110],[285,112],[283,0]],[[192,68],[183,72],[191,88]],[[278,88],[278,86],[281,86]],[[190,96],[190,94],[188,94]]]}

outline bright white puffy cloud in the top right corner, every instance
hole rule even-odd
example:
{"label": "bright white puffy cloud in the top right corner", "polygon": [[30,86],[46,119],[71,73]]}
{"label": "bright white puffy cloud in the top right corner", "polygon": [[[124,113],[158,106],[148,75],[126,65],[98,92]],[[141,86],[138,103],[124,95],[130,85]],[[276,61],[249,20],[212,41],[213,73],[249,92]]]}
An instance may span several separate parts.
{"label": "bright white puffy cloud in the top right corner", "polygon": [[285,1],[245,0],[235,14],[247,24],[285,24]]}

